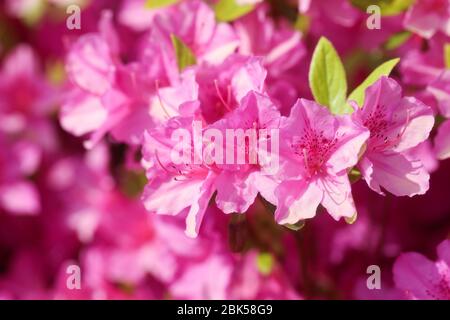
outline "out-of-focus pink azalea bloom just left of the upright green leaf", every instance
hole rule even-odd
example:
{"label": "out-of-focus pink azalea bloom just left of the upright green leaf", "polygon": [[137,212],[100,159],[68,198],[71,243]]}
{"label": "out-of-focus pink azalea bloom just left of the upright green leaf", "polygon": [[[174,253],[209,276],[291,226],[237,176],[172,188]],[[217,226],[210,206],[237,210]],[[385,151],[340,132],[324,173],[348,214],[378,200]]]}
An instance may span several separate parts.
{"label": "out-of-focus pink azalea bloom just left of the upright green leaf", "polygon": [[240,40],[238,52],[261,57],[268,72],[266,90],[280,110],[289,114],[297,98],[309,93],[307,80],[303,78],[307,72],[302,64],[306,56],[302,33],[293,30],[284,19],[275,23],[267,5],[258,6],[233,26]]}

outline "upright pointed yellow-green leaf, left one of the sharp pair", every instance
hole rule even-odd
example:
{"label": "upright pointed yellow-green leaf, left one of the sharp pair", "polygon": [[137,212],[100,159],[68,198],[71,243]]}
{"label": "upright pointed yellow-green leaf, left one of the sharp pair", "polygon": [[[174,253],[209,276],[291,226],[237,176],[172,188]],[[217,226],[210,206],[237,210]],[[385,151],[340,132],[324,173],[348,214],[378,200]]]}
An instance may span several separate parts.
{"label": "upright pointed yellow-green leaf, left one of the sharp pair", "polygon": [[317,103],[327,106],[332,113],[341,113],[347,96],[345,70],[333,45],[324,37],[314,50],[309,86]]}

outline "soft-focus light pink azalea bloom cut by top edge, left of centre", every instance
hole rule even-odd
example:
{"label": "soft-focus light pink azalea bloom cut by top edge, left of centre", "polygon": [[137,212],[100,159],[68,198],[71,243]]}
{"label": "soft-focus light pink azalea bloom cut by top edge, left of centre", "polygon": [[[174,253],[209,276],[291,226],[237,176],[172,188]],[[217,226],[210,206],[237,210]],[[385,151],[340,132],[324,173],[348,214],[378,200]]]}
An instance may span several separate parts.
{"label": "soft-focus light pink azalea bloom cut by top edge, left of centre", "polygon": [[166,59],[164,63],[175,68],[171,35],[180,38],[200,63],[220,63],[239,44],[232,27],[227,23],[217,23],[214,11],[200,0],[179,1],[157,9],[146,9],[144,0],[126,0],[119,13],[119,21],[136,31],[148,30],[148,36]]}

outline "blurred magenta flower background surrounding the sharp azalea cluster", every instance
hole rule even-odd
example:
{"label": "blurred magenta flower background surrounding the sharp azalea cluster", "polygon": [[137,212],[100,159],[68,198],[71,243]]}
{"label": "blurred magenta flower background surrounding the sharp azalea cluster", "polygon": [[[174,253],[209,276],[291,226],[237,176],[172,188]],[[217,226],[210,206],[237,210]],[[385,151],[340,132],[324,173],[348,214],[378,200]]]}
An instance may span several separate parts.
{"label": "blurred magenta flower background surrounding the sharp azalea cluster", "polygon": [[[250,30],[250,43],[237,49],[242,54],[267,57],[298,35],[295,51],[267,65],[271,94],[285,115],[297,98],[312,98],[308,68],[321,36],[342,57],[351,88],[382,62],[400,57],[392,77],[405,94],[439,110],[442,101],[427,89],[449,67],[450,30],[442,27],[450,26],[447,0],[406,1],[404,8],[373,1],[382,8],[379,30],[367,27],[368,1],[249,2],[254,7],[248,14],[227,22],[236,32]],[[422,13],[431,17],[422,32],[409,20],[425,3]],[[67,27],[71,4],[81,9],[80,29]],[[0,2],[0,297],[448,299],[450,245],[437,247],[450,236],[450,162],[434,153],[435,131],[415,150],[431,172],[423,196],[380,196],[358,180],[356,222],[336,222],[320,209],[300,230],[277,225],[262,198],[245,215],[211,206],[198,238],[191,239],[183,217],[144,209],[139,148],[105,135],[87,149],[83,134],[63,129],[70,48],[98,33],[108,10],[122,63],[134,61],[165,9],[144,0]],[[159,63],[149,56],[149,68]],[[436,114],[437,125],[443,123],[445,115]],[[68,286],[71,265],[80,267],[80,288]],[[380,267],[381,289],[367,287],[371,265]],[[411,266],[417,270],[410,272]],[[411,292],[403,277],[425,284]]]}

